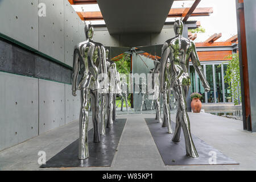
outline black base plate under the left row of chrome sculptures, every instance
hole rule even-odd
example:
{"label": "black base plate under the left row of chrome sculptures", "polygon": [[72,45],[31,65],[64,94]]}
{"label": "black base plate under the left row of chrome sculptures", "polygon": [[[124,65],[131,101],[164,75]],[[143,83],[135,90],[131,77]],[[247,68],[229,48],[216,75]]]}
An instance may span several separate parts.
{"label": "black base plate under the left row of chrome sculptures", "polygon": [[79,140],[77,139],[40,167],[110,167],[125,123],[126,119],[114,121],[112,127],[106,129],[106,135],[101,135],[101,142],[99,143],[93,142],[93,129],[89,130],[90,156],[88,159],[78,159]]}

